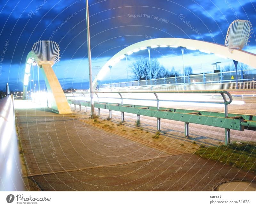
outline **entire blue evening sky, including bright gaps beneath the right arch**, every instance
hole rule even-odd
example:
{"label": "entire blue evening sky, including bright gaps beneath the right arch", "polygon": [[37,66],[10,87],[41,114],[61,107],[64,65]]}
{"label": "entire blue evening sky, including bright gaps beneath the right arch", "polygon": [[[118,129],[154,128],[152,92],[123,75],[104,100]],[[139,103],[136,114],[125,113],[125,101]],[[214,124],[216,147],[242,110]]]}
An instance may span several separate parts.
{"label": "entire blue evening sky, including bright gaps beneath the right arch", "polygon": [[[59,44],[61,58],[53,69],[63,88],[86,87],[83,84],[88,81],[85,1],[12,0],[1,1],[0,5],[1,90],[7,82],[12,90],[20,90],[27,54],[38,40]],[[252,23],[252,38],[244,50],[256,53],[256,1],[89,0],[89,5],[93,75],[121,49],[150,38],[188,38],[224,44],[228,26],[236,19]],[[173,57],[170,49],[151,53],[168,70],[172,66],[180,70],[179,48],[176,54]],[[129,63],[147,55],[147,51],[133,54]],[[191,65],[195,73],[211,70],[215,61],[232,63],[213,55],[203,54],[205,58],[200,55],[198,51],[185,51],[185,65]],[[112,78],[126,78],[125,69],[125,61],[119,62],[112,68]]]}

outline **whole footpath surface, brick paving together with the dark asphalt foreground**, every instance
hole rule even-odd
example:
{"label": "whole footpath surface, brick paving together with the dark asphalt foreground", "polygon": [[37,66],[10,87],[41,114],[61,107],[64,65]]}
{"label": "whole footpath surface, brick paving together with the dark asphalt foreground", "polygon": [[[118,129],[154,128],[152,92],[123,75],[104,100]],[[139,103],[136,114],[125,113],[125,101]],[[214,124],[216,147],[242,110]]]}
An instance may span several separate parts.
{"label": "whole footpath surface, brick paving together with the dark asphalt foreground", "polygon": [[253,173],[187,153],[194,146],[187,147],[192,140],[183,133],[151,137],[150,142],[139,130],[137,136],[145,137],[138,141],[128,129],[121,136],[102,129],[106,124],[100,119],[95,125],[86,123],[89,116],[77,112],[58,115],[47,108],[15,112],[28,177],[42,190],[211,191],[223,181],[256,181]]}

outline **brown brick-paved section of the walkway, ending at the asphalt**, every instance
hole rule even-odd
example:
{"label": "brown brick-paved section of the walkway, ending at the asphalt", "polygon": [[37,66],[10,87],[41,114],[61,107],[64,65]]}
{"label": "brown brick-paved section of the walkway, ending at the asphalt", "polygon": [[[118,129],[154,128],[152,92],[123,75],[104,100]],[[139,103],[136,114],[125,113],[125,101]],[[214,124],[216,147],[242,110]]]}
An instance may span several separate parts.
{"label": "brown brick-paved section of the walkway, ending at the asphalt", "polygon": [[[17,110],[16,110],[17,111]],[[19,109],[28,176],[165,157],[169,154],[79,121],[76,115]]]}

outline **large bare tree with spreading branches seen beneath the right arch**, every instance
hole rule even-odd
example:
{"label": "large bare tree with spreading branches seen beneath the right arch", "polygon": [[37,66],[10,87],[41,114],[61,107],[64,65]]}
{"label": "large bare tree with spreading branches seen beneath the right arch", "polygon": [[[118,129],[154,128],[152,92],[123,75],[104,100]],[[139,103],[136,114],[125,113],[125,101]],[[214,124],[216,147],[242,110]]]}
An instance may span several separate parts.
{"label": "large bare tree with spreading branches seen beneath the right arch", "polygon": [[148,58],[141,58],[135,63],[129,65],[138,80],[148,80],[161,78],[166,69],[162,66],[156,58],[151,58],[150,64]]}

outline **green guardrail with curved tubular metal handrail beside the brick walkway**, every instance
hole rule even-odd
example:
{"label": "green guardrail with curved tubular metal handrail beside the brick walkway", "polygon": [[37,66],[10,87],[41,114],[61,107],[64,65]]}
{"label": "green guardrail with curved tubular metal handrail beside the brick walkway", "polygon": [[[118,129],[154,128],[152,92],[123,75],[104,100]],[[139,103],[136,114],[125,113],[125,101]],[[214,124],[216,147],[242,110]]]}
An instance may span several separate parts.
{"label": "green guardrail with curved tubular metal handrail beside the brick walkway", "polygon": [[[117,93],[121,98],[121,104],[116,103],[100,103],[99,98],[106,98],[106,97],[99,97],[99,94],[102,93]],[[156,96],[157,106],[156,107],[149,107],[149,106],[139,106],[139,105],[129,105],[123,104],[124,99],[131,99],[133,98],[124,98],[122,94],[125,93],[153,93]],[[198,103],[219,103],[224,104],[225,106],[225,113],[218,113],[218,112],[208,112],[208,111],[199,111],[199,110],[187,110],[187,109],[174,109],[174,108],[163,108],[159,106],[159,101],[166,101],[158,99],[157,94],[159,93],[219,93],[221,94],[223,101],[193,101]],[[77,95],[80,97],[86,97],[85,95],[88,93],[72,93],[73,98],[77,98]],[[208,126],[215,126],[225,128],[225,144],[230,143],[230,129],[235,130],[244,130],[244,129],[256,129],[256,116],[253,115],[237,115],[237,114],[229,114],[228,115],[228,104],[232,102],[232,96],[229,92],[223,90],[215,90],[215,91],[180,91],[180,92],[96,92],[98,97],[98,103],[94,103],[94,106],[98,108],[98,115],[100,115],[100,108],[108,109],[109,110],[109,117],[112,118],[111,111],[120,111],[122,121],[124,121],[124,112],[132,113],[137,115],[137,120],[140,119],[140,115],[151,116],[157,118],[157,129],[160,130],[160,119],[170,119],[175,121],[182,121],[185,123],[185,136],[188,137],[188,123],[197,123],[203,124]],[[67,98],[71,97],[66,94]],[[229,100],[227,100],[227,97]],[[109,98],[109,97],[108,97]],[[112,98],[111,98],[112,99]],[[143,100],[143,99],[136,99],[136,100]],[[145,99],[144,99],[145,100]],[[148,99],[147,99],[148,100]],[[154,100],[154,99],[151,99]],[[172,101],[172,100],[168,100]],[[181,100],[182,102],[182,100]],[[80,110],[81,106],[90,107],[90,102],[81,100],[68,100],[68,103],[79,105]]]}

